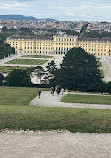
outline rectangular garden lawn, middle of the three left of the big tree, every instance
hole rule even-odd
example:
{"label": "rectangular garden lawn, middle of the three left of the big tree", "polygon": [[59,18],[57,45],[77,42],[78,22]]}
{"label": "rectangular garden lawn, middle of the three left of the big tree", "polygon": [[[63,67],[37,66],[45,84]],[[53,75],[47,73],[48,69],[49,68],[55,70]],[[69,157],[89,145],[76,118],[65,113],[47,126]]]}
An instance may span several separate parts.
{"label": "rectangular garden lawn, middle of the three left of the big tree", "polygon": [[48,60],[43,59],[14,59],[6,64],[22,64],[22,65],[43,65]]}

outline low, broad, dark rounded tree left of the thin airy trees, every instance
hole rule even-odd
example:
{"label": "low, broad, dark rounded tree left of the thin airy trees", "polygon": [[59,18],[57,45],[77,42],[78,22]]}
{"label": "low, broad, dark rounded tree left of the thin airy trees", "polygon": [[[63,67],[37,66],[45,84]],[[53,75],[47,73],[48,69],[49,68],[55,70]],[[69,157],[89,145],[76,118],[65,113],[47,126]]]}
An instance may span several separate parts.
{"label": "low, broad, dark rounded tree left of the thin airy trees", "polygon": [[29,87],[32,85],[30,74],[26,70],[15,69],[5,78],[7,85]]}

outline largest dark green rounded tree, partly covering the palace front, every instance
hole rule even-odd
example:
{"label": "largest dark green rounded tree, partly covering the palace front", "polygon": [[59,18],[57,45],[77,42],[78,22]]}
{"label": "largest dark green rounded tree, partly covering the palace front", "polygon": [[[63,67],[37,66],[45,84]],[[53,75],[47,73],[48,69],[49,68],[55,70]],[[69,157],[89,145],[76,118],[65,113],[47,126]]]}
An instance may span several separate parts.
{"label": "largest dark green rounded tree, partly covering the palace front", "polygon": [[63,88],[98,91],[101,74],[96,58],[82,48],[73,48],[65,55],[52,82]]}

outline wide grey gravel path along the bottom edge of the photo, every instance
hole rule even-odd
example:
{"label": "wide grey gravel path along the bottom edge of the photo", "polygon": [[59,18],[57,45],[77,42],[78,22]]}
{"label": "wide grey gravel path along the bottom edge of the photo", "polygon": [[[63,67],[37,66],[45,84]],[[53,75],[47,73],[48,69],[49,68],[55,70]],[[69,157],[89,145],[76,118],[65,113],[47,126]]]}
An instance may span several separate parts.
{"label": "wide grey gravel path along the bottom edge of the photo", "polygon": [[0,158],[110,158],[111,134],[0,133]]}

